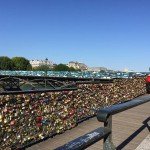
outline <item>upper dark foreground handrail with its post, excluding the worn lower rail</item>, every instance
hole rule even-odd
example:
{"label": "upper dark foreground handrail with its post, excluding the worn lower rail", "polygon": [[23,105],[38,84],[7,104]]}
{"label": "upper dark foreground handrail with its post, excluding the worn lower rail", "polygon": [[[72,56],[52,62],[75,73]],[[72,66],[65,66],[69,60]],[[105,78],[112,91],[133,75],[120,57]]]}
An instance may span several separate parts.
{"label": "upper dark foreground handrail with its post, excluding the worn lower rail", "polygon": [[[104,122],[104,127],[109,128],[112,131],[112,115],[136,107],[138,105],[144,104],[146,102],[150,102],[150,95],[140,96],[125,103],[112,105],[110,107],[100,109],[97,113],[97,119],[100,122]],[[103,149],[104,150],[116,149],[112,142],[112,133],[110,133],[108,137],[104,138]]]}

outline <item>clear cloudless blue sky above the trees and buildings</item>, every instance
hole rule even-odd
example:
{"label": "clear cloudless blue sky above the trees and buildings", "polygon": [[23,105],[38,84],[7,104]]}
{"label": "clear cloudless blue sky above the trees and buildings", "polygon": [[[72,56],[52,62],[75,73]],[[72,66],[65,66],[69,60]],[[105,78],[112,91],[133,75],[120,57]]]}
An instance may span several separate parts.
{"label": "clear cloudless blue sky above the trees and buildings", "polygon": [[0,55],[148,71],[150,0],[0,0]]}

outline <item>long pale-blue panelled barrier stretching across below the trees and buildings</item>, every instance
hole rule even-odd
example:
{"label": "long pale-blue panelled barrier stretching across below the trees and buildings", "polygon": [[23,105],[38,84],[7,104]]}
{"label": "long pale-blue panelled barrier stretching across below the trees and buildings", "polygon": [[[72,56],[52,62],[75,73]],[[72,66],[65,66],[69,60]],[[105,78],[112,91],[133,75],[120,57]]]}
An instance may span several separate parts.
{"label": "long pale-blue panelled barrier stretching across below the trees and buildings", "polygon": [[0,71],[0,75],[11,76],[49,76],[49,77],[74,77],[74,78],[132,78],[145,76],[149,72],[94,72],[94,71]]}

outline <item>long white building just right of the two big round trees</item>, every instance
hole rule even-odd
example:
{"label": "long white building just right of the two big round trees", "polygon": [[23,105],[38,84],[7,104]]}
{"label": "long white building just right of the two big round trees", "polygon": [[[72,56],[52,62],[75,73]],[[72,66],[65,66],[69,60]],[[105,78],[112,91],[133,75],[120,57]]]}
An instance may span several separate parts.
{"label": "long white building just right of the two big round trees", "polygon": [[48,59],[45,60],[30,60],[30,64],[33,68],[41,66],[41,65],[48,65],[49,67],[53,67],[54,63],[49,61]]}

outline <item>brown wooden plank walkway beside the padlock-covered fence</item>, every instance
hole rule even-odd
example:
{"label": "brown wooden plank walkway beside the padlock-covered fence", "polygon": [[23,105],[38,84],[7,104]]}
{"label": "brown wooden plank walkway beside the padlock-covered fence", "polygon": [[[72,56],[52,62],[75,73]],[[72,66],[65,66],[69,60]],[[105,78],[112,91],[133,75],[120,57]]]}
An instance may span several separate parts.
{"label": "brown wooden plank walkway beside the padlock-covered fence", "polygon": [[[118,150],[134,150],[150,134],[150,127],[146,122],[150,121],[150,102],[135,108],[126,110],[113,116],[113,142]],[[88,133],[99,126],[96,117],[80,123],[77,127],[56,135],[46,141],[33,145],[27,150],[52,150],[65,144],[85,133]],[[87,148],[88,150],[103,149],[103,141],[99,141]]]}

